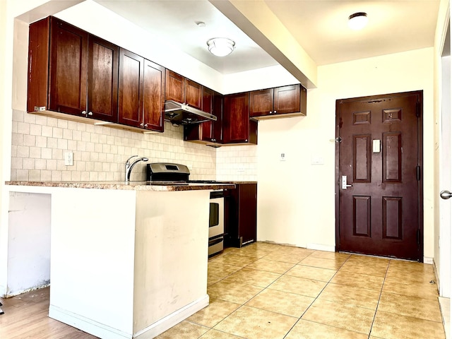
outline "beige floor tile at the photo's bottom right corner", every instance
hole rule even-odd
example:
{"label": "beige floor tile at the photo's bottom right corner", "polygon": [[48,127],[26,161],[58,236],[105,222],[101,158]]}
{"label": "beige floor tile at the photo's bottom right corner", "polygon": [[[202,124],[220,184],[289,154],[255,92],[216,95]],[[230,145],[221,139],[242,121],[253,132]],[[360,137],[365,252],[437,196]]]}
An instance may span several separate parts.
{"label": "beige floor tile at the photo's bottom right corner", "polygon": [[442,323],[377,311],[371,335],[384,339],[444,339]]}

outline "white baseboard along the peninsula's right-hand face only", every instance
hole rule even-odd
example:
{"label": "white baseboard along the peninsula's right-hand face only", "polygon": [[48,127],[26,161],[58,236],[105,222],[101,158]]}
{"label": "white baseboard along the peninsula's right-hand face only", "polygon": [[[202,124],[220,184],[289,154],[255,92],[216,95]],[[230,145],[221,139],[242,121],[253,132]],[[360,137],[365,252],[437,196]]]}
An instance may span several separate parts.
{"label": "white baseboard along the peninsula's right-hand face only", "polygon": [[189,316],[195,314],[197,311],[203,309],[209,304],[209,296],[205,295],[191,304],[182,307],[182,309],[178,309],[177,311],[165,316],[165,318],[156,321],[152,325],[143,328],[143,330],[135,333],[133,338],[135,339],[152,339],[157,335],[167,331],[172,326],[177,325],[181,321],[187,319]]}

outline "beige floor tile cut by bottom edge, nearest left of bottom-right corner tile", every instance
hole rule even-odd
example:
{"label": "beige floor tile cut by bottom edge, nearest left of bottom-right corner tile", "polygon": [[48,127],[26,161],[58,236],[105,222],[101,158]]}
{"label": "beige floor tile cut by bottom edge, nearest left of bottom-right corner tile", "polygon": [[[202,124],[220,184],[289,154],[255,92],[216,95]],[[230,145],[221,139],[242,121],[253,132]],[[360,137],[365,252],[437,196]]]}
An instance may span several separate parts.
{"label": "beige floor tile cut by bottom edge, nearest left of bottom-right corner tile", "polygon": [[284,339],[367,339],[367,334],[345,330],[343,328],[299,320]]}

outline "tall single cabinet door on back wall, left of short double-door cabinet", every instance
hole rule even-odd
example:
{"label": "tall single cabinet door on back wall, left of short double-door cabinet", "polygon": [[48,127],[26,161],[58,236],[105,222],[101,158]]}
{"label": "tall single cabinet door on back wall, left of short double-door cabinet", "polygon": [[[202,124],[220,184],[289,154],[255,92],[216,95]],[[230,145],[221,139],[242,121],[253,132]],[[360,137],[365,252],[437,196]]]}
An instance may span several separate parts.
{"label": "tall single cabinet door on back wall, left of short double-door cabinet", "polygon": [[223,143],[249,141],[249,92],[225,96]]}

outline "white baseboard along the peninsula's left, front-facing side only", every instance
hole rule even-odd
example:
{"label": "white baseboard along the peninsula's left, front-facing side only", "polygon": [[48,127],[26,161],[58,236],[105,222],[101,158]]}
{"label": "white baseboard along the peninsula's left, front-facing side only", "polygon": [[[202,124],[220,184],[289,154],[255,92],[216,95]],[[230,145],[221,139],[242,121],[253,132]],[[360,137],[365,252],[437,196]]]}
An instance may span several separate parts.
{"label": "white baseboard along the peninsula's left, front-facing side only", "polygon": [[66,309],[61,309],[57,306],[50,305],[49,307],[49,317],[55,320],[66,323],[69,326],[73,326],[82,330],[86,333],[90,333],[99,338],[105,339],[132,339],[131,333],[124,333],[118,331],[116,328],[112,328],[103,323],[93,321],[92,319],[81,316],[80,314],[75,314]]}

